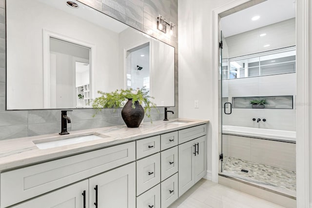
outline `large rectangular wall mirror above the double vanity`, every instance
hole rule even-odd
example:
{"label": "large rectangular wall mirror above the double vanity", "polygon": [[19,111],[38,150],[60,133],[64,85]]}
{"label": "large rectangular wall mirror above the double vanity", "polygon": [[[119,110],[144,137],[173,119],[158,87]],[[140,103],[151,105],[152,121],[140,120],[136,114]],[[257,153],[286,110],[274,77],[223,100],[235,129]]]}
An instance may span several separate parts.
{"label": "large rectangular wall mirror above the double vanity", "polygon": [[6,1],[6,108],[88,108],[97,91],[175,105],[175,48],[80,2]]}

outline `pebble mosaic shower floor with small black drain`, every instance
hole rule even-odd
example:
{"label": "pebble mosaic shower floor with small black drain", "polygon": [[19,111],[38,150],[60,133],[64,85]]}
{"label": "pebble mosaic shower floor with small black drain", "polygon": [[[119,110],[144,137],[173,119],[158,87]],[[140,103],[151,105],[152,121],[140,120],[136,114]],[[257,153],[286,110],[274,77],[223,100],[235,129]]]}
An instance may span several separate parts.
{"label": "pebble mosaic shower floor with small black drain", "polygon": [[[224,158],[220,176],[296,199],[296,172],[234,157]],[[242,171],[242,170],[248,170]]]}

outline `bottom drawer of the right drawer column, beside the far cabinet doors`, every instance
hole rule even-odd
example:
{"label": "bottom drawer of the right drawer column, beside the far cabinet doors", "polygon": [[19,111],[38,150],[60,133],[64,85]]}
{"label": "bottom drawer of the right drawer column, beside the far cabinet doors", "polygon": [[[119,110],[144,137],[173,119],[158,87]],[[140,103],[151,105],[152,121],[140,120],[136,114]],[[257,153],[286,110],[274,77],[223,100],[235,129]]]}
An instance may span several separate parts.
{"label": "bottom drawer of the right drawer column, beside the far cabinet doors", "polygon": [[177,173],[161,182],[161,208],[167,208],[178,198]]}

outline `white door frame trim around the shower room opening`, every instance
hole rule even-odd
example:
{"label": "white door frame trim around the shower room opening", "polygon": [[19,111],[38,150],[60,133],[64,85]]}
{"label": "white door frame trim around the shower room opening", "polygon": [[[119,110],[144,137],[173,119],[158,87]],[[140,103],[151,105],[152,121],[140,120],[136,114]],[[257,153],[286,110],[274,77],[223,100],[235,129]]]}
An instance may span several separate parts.
{"label": "white door frame trim around the shower room opening", "polygon": [[[230,3],[224,4],[212,11],[212,69],[219,67],[219,14],[239,6],[249,0],[235,0]],[[296,1],[296,199],[298,208],[312,208],[310,204],[310,160],[309,160],[309,135],[312,130],[309,129],[309,118],[311,117],[311,106],[309,106],[309,99],[311,100],[311,89],[309,86],[312,81],[309,80],[309,35],[311,28],[309,27],[309,14],[310,14],[309,0]],[[310,43],[311,44],[311,43]],[[298,70],[300,69],[300,70]],[[311,75],[310,75],[311,76]],[[219,80],[220,75],[218,70],[213,70],[213,122],[212,122],[212,181],[218,181],[219,170],[219,135],[221,134],[221,119],[219,118],[220,104],[219,104]],[[213,125],[214,124],[214,125]],[[310,183],[309,183],[310,182]]]}

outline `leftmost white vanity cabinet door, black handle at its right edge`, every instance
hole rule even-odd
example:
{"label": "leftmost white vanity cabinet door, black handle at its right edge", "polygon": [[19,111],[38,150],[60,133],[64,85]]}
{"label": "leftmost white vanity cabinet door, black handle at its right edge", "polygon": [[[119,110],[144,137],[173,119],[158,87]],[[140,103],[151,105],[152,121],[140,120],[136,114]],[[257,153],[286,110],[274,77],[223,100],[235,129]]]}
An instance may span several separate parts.
{"label": "leftmost white vanity cabinet door, black handle at its right edge", "polygon": [[[84,208],[88,207],[88,180],[60,188],[13,208]],[[84,195],[83,195],[84,194]],[[84,204],[85,203],[85,204]],[[85,206],[84,206],[85,205]]]}

